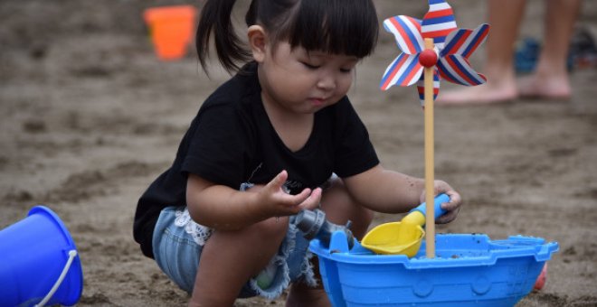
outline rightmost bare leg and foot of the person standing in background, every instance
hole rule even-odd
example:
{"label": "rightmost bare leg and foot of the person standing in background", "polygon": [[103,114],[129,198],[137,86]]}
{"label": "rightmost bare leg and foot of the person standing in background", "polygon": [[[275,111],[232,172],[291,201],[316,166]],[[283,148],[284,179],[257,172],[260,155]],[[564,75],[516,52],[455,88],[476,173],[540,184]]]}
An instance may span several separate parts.
{"label": "rightmost bare leg and foot of the person standing in background", "polygon": [[547,0],[545,42],[535,73],[521,79],[520,95],[532,98],[569,98],[566,58],[581,0]]}

